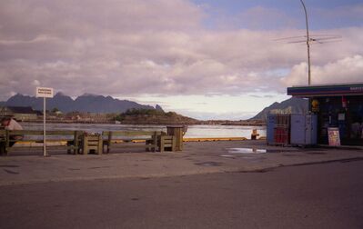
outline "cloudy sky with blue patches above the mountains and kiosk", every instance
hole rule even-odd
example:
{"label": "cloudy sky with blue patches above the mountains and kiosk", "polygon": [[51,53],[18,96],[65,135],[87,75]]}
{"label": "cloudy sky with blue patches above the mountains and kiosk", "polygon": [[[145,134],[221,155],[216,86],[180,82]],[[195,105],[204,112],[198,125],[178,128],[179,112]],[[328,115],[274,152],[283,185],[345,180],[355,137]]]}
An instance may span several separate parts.
{"label": "cloudy sky with blue patches above the mountains and kiosk", "polygon": [[[362,1],[305,2],[313,37],[338,37],[312,45],[312,84],[362,82]],[[298,0],[2,0],[0,100],[41,85],[245,119],[307,85],[305,33]]]}

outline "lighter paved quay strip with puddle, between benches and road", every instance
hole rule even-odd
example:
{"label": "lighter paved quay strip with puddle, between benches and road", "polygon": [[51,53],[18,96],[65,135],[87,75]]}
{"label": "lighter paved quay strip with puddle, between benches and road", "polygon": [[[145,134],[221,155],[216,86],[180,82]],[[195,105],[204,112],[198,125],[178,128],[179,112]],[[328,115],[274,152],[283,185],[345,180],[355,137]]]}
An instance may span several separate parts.
{"label": "lighter paved quay strip with puddle, between benches and road", "polygon": [[[0,156],[0,186],[95,179],[151,178],[191,174],[251,172],[351,159],[363,160],[361,148],[297,148],[265,141],[187,143],[182,152],[150,153],[126,149],[112,154],[54,154],[41,152]],[[62,152],[59,152],[62,153]]]}

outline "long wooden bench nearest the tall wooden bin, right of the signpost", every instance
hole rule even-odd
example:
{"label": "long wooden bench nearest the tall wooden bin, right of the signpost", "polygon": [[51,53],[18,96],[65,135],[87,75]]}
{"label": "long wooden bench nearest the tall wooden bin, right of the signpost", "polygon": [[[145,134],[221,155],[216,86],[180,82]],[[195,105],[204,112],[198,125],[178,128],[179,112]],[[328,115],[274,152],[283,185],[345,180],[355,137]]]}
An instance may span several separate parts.
{"label": "long wooden bench nearest the tall wooden bin, right of the signpost", "polygon": [[157,139],[162,134],[165,133],[161,131],[104,131],[102,136],[104,139],[103,145],[107,147],[106,153],[110,153],[111,149],[116,147],[140,147],[139,144],[124,144],[125,142],[138,140],[146,142],[146,151],[156,152],[156,148],[158,148]]}

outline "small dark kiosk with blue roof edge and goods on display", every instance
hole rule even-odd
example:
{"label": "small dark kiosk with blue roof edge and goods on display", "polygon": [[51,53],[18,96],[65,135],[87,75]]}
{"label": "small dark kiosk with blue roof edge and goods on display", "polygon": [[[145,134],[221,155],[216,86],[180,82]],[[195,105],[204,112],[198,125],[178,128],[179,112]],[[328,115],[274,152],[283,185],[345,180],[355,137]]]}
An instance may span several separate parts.
{"label": "small dark kiosk with blue roof edge and goods on display", "polygon": [[363,84],[293,86],[287,95],[309,99],[310,113],[318,115],[318,144],[328,144],[328,130],[336,127],[341,144],[363,145]]}

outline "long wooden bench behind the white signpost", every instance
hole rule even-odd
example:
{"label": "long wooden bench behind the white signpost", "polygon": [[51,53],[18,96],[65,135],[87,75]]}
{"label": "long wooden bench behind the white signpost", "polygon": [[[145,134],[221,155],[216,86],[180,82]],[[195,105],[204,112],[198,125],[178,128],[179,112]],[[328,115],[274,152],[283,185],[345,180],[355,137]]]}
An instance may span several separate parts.
{"label": "long wooden bench behind the white signpost", "polygon": [[[83,134],[82,131],[67,131],[67,130],[59,130],[59,131],[46,131],[46,141],[57,141],[57,142],[66,142],[66,145],[46,145],[46,149],[48,150],[66,150],[68,154],[73,152],[73,154],[77,154],[80,149],[80,136]],[[22,139],[12,139],[12,136],[24,136]],[[36,136],[38,139],[31,140],[27,139],[29,136]],[[60,136],[60,138],[54,138],[55,136]],[[66,136],[70,136],[70,138],[66,138]],[[51,138],[53,137],[53,138]],[[19,147],[10,147],[11,143],[43,143],[43,131],[33,131],[33,130],[21,130],[21,131],[7,131],[2,130],[0,132],[0,138],[4,144],[3,151],[5,154],[9,154],[15,150],[34,150],[34,149],[43,149],[43,145],[35,146],[35,145],[26,145]]]}

